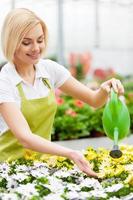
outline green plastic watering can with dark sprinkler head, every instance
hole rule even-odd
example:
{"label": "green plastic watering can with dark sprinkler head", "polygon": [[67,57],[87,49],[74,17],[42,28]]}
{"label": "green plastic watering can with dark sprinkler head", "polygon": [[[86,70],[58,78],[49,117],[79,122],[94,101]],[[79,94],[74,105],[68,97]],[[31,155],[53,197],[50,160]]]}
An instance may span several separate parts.
{"label": "green plastic watering can with dark sprinkler head", "polygon": [[125,138],[129,133],[130,115],[126,104],[118,98],[113,89],[111,90],[110,100],[105,105],[102,122],[106,135],[114,140],[110,156],[120,158],[122,152],[119,150],[118,141]]}

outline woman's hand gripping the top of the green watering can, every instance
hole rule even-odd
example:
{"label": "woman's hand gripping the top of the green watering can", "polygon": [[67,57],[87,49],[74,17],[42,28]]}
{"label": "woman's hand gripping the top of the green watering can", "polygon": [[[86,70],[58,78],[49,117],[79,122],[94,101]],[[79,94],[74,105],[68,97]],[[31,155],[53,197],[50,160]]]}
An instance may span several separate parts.
{"label": "woman's hand gripping the top of the green watering can", "polygon": [[122,83],[120,82],[120,80],[115,78],[105,81],[104,83],[101,84],[100,88],[107,93],[110,93],[111,88],[113,88],[113,90],[119,95],[124,94],[124,87]]}

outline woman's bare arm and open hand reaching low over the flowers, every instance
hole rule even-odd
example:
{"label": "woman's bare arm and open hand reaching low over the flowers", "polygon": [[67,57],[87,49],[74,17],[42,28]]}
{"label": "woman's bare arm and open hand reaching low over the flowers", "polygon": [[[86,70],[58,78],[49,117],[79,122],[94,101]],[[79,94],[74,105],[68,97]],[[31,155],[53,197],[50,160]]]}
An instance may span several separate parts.
{"label": "woman's bare arm and open hand reaching low over the flowers", "polygon": [[97,176],[96,173],[91,170],[89,163],[80,152],[62,147],[33,134],[23,114],[15,103],[0,104],[0,113],[15,137],[25,148],[37,152],[67,157],[73,160],[79,169],[86,174]]}

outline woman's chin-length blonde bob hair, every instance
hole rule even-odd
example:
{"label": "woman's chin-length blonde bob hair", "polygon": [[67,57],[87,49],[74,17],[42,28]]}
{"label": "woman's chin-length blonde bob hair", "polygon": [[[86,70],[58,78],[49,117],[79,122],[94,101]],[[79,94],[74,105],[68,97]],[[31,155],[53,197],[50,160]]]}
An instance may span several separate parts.
{"label": "woman's chin-length blonde bob hair", "polygon": [[16,8],[6,16],[1,33],[1,43],[4,56],[9,62],[13,62],[14,53],[19,48],[26,33],[38,23],[41,24],[44,32],[46,50],[47,26],[34,12],[26,8]]}

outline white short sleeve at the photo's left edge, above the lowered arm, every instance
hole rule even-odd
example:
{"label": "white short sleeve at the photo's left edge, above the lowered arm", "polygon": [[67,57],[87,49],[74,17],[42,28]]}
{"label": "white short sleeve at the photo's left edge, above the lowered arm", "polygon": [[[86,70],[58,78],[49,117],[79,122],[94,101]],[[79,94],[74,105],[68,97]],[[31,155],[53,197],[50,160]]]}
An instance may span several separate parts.
{"label": "white short sleeve at the photo's left edge, above the lowered arm", "polygon": [[0,103],[15,102],[11,83],[0,77]]}

